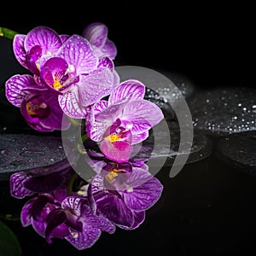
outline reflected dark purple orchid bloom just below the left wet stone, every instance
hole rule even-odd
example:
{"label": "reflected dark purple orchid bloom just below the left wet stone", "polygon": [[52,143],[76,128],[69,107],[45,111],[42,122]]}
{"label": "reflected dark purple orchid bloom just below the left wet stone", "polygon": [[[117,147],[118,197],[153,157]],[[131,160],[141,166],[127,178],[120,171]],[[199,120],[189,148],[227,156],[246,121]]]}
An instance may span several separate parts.
{"label": "reflected dark purple orchid bloom just below the left wet stone", "polygon": [[72,172],[67,158],[50,166],[15,172],[9,178],[10,195],[22,199],[38,193],[49,193],[55,189],[66,189]]}

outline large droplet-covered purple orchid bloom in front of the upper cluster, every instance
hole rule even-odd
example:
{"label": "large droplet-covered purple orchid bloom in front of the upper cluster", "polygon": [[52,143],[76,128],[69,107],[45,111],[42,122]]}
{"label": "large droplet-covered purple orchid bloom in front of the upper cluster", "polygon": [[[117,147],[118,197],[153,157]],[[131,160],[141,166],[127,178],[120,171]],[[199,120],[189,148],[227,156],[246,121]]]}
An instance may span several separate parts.
{"label": "large droplet-covered purple orchid bloom in front of the upper cluster", "polygon": [[113,61],[98,58],[89,41],[79,35],[67,38],[54,57],[41,61],[40,79],[59,93],[63,112],[78,119],[119,84]]}

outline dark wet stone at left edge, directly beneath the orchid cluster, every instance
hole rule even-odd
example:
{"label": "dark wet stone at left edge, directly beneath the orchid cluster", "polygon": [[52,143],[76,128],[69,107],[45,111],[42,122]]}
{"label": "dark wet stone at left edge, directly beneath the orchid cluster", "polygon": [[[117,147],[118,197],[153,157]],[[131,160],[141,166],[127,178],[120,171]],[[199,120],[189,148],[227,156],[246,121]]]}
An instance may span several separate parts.
{"label": "dark wet stone at left edge, directly beneath the orchid cluster", "polygon": [[0,134],[0,179],[13,172],[50,166],[65,158],[61,137]]}

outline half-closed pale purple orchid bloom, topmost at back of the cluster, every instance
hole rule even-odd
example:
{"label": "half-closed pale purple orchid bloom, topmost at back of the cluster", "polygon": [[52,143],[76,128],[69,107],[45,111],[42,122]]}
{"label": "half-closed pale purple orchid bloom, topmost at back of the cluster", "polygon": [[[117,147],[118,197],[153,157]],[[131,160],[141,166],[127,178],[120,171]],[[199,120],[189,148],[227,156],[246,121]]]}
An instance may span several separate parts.
{"label": "half-closed pale purple orchid bloom, topmost at back of the cluster", "polygon": [[108,39],[108,26],[101,22],[91,23],[84,28],[82,32],[99,57],[109,57],[114,59],[117,55],[117,49],[113,41]]}

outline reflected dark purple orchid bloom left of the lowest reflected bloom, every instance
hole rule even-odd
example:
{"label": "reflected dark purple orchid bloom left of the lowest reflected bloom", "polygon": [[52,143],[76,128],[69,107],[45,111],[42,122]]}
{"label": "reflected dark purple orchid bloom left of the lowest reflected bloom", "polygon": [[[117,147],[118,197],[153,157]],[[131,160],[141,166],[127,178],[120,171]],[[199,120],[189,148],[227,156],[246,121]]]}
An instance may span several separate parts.
{"label": "reflected dark purple orchid bloom left of the lowest reflected bloom", "polygon": [[61,201],[67,197],[66,189],[56,189],[50,193],[32,197],[22,207],[20,221],[23,227],[32,224],[38,235],[45,238],[45,221],[49,212],[61,207]]}

